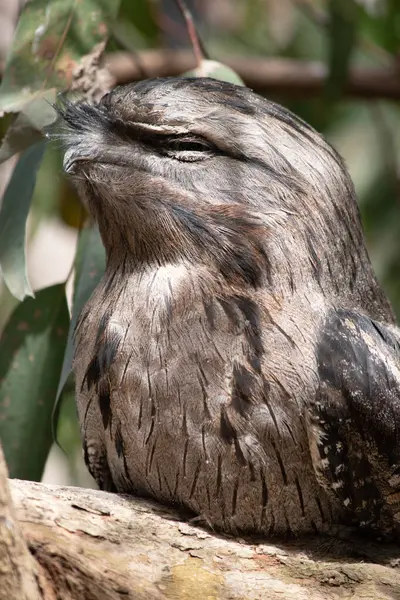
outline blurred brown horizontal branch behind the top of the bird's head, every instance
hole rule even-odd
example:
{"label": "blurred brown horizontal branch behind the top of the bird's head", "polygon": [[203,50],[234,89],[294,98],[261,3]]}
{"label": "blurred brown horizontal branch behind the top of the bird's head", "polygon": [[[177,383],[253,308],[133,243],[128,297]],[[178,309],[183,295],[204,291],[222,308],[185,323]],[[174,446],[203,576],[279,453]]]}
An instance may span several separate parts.
{"label": "blurred brown horizontal branch behind the top of the bird's head", "polygon": [[[327,77],[321,62],[259,56],[221,57],[245,84],[259,93],[296,97],[320,95]],[[191,51],[151,50],[137,55],[117,52],[106,57],[106,66],[117,83],[129,83],[147,78],[181,75],[195,67]],[[350,70],[345,94],[355,98],[400,99],[400,71],[392,68],[358,67]]]}

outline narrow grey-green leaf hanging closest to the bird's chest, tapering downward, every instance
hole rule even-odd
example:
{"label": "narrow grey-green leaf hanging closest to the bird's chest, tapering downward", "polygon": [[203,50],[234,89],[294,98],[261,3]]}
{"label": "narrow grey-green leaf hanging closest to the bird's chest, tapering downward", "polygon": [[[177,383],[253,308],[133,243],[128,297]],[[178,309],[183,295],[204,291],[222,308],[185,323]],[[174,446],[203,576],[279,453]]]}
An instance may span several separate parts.
{"label": "narrow grey-green leaf hanging closest to the bird's chest, tapering downward", "polygon": [[72,369],[74,352],[74,329],[82,308],[102,278],[106,265],[106,255],[97,227],[83,229],[78,242],[75,259],[75,289],[72,299],[72,315],[69,325],[67,345],[57,389],[53,413],[54,431],[60,410],[60,398]]}

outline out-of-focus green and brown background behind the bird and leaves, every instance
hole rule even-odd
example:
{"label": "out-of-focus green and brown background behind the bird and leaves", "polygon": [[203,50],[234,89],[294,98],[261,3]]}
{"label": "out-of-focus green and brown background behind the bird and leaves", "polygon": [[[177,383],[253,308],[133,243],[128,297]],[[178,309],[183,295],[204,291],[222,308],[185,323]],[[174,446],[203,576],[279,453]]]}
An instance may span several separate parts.
{"label": "out-of-focus green and brown background behind the bird and leaves", "polygon": [[[2,65],[23,4],[0,0]],[[187,0],[187,5],[210,58],[236,67],[250,87],[297,113],[344,157],[372,262],[400,317],[399,0]],[[122,1],[107,47],[116,82],[181,72],[190,52],[174,0]],[[1,193],[14,164],[11,159],[0,165]],[[50,144],[29,217],[35,289],[67,278],[80,220],[60,151]],[[15,303],[1,287],[0,329]],[[43,480],[94,486],[81,458],[71,387],[58,439],[65,453],[53,447]]]}

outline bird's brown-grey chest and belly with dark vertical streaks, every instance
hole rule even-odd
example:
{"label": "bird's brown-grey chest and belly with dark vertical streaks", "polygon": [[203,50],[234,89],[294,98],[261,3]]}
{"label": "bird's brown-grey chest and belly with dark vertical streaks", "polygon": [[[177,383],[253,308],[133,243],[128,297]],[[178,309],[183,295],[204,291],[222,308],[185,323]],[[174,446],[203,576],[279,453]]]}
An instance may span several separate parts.
{"label": "bird's brown-grey chest and belly with dark vertical streaks", "polygon": [[266,337],[249,298],[149,286],[157,294],[89,311],[78,333],[83,436],[104,448],[119,491],[184,504],[228,529],[286,527],[281,493],[297,514],[299,477],[304,497],[312,478],[296,381],[274,381],[278,365],[291,372],[290,352]]}

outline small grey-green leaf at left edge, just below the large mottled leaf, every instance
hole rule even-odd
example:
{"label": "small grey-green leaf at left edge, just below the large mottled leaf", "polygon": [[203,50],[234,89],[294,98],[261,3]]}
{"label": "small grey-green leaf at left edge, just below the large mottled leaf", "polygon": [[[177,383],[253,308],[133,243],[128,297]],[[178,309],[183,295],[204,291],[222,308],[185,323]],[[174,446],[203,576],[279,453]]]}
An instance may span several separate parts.
{"label": "small grey-green leaf at left edge, just below the large mottled leaf", "polygon": [[0,163],[43,139],[43,131],[55,122],[54,90],[38,95],[14,117],[0,146]]}

